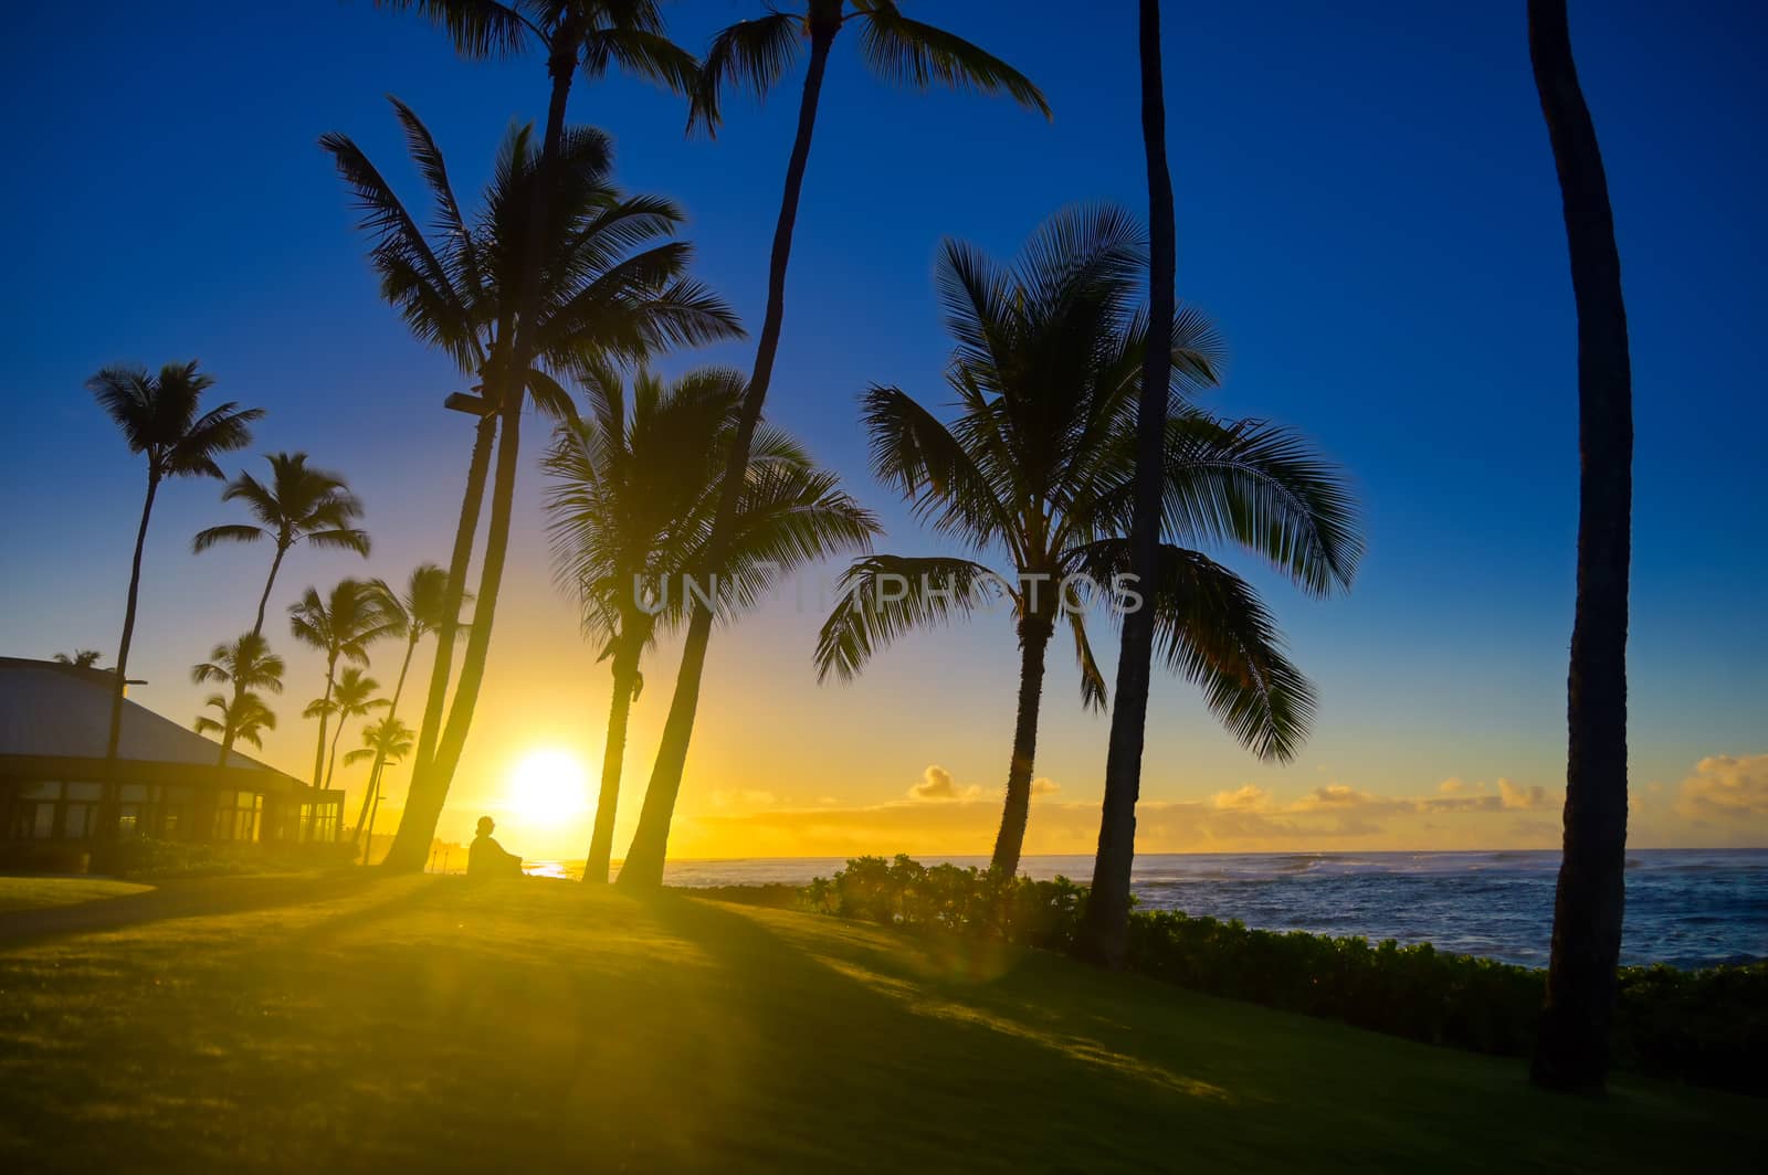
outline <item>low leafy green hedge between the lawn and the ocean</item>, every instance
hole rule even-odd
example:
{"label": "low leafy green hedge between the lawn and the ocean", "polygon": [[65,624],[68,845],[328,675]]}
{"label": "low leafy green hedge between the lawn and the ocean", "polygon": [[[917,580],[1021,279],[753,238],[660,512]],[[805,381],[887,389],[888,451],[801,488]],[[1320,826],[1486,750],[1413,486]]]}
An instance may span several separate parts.
{"label": "low leafy green hedge between the lawn and the ocean", "polygon": [[[801,905],[916,933],[1066,951],[1086,887],[981,869],[857,857],[799,891]],[[778,905],[778,894],[769,905]],[[1429,944],[1264,931],[1172,910],[1130,915],[1130,970],[1360,1028],[1482,1053],[1526,1055],[1543,972]],[[1768,961],[1680,970],[1623,967],[1618,1065],[1697,1085],[1768,1094]]]}

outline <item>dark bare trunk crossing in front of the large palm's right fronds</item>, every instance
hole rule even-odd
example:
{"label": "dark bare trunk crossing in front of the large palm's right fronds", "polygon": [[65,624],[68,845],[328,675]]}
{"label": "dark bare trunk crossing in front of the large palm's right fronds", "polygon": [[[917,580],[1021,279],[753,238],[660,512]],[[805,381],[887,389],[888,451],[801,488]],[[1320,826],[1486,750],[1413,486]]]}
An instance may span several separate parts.
{"label": "dark bare trunk crossing in front of the large palm's right fronds", "polygon": [[[1140,0],[1142,148],[1147,157],[1147,353],[1135,419],[1135,514],[1130,519],[1130,571],[1153,583],[1160,560],[1162,449],[1167,433],[1167,383],[1172,376],[1177,230],[1172,171],[1167,166],[1167,97],[1160,64],[1160,0]],[[1142,746],[1155,652],[1155,613],[1137,608],[1123,618],[1110,742],[1105,751],[1105,802],[1093,887],[1075,951],[1101,967],[1123,967],[1130,935],[1130,868],[1135,862],[1135,802],[1142,792]]]}

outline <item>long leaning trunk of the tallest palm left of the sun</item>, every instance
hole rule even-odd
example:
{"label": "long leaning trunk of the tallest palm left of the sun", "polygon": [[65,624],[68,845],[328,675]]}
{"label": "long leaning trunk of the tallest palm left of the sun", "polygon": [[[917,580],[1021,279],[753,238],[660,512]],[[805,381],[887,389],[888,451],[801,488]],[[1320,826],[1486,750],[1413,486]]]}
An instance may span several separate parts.
{"label": "long leaning trunk of the tallest palm left of the sun", "polygon": [[[504,417],[502,436],[497,443],[497,479],[492,486],[492,521],[484,537],[484,567],[479,572],[479,599],[472,613],[472,633],[467,636],[467,656],[460,668],[460,686],[454,691],[454,705],[449,707],[447,724],[435,744],[435,754],[424,756],[419,742],[417,765],[412,769],[412,786],[405,802],[405,815],[400,816],[400,832],[387,853],[387,866],[401,871],[417,871],[424,866],[424,855],[435,839],[437,820],[442,816],[442,804],[447,802],[447,790],[460,765],[461,749],[467,746],[467,732],[472,726],[472,712],[479,701],[479,686],[484,682],[484,659],[492,645],[492,622],[497,617],[497,592],[504,581],[504,555],[509,550],[509,516],[516,493],[516,458],[520,451],[522,401],[527,396],[527,373],[534,357],[534,316],[539,306],[541,260],[545,258],[543,231],[552,212],[553,171],[559,164],[559,143],[564,140],[564,110],[571,95],[571,80],[576,74],[576,21],[568,18],[553,34],[553,51],[546,62],[552,76],[552,99],[546,106],[546,138],[541,141],[541,159],[534,196],[529,201],[529,237],[523,247],[522,290],[516,300],[514,332],[506,353],[506,364],[495,373],[500,387],[499,412]],[[453,590],[453,587],[451,587]],[[440,657],[440,648],[437,652]],[[446,686],[446,682],[444,682]],[[442,701],[431,689],[431,700],[440,716]],[[430,728],[430,716],[424,716]]]}

